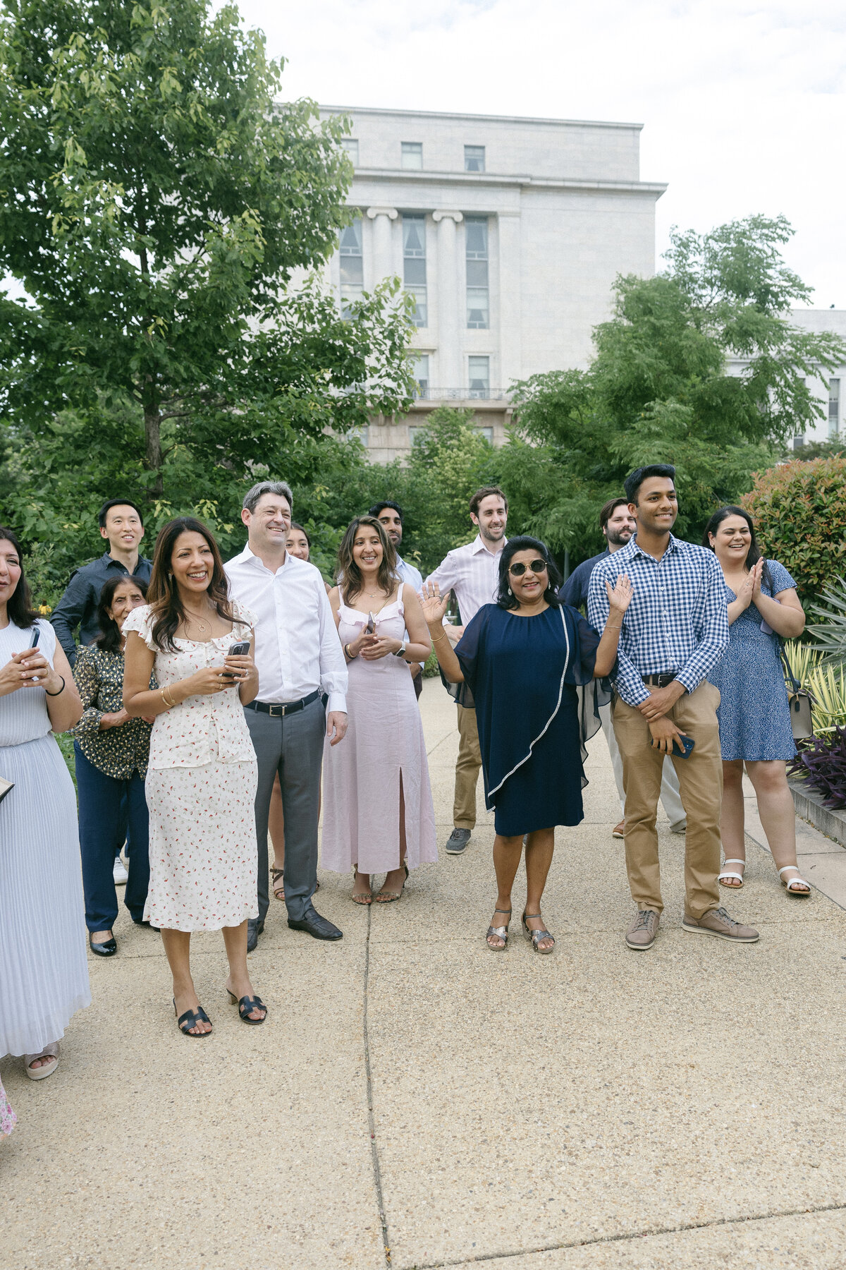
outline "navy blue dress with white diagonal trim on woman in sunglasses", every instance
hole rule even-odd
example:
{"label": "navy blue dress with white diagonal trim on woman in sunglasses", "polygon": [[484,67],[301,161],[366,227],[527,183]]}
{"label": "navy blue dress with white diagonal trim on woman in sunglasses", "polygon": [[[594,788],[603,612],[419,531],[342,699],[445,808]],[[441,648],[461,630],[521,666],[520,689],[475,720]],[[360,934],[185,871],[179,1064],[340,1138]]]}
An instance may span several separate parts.
{"label": "navy blue dress with white diagonal trim on woman in sunglasses", "polygon": [[485,803],[504,837],[583,819],[599,640],[567,605],[534,617],[485,605],[455,646],[476,704]]}

